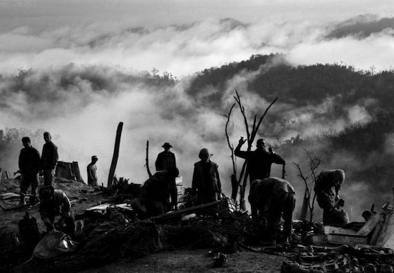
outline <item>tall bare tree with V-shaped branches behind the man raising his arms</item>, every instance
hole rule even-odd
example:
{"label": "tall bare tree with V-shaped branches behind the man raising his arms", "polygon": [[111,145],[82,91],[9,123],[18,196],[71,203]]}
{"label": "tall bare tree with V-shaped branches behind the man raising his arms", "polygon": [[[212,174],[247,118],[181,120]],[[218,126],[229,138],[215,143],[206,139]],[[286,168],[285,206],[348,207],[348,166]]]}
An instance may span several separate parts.
{"label": "tall bare tree with V-shaped branches behind the man raising his arms", "polygon": [[[260,117],[259,122],[256,124],[256,120],[257,120],[257,114],[254,115],[254,119],[253,119],[253,125],[252,125],[252,132],[250,132],[250,125],[247,122],[247,117],[245,114],[245,108],[242,105],[241,102],[241,97],[239,97],[238,91],[235,90],[236,95],[234,96],[234,99],[236,101],[236,103],[239,106],[239,109],[241,110],[241,114],[243,116],[243,122],[245,124],[245,130],[246,130],[246,136],[247,136],[247,151],[250,152],[250,150],[252,149],[252,143],[254,141],[254,138],[257,134],[257,132],[259,131],[259,127],[261,125],[261,122],[263,121],[265,115],[268,113],[268,110],[270,110],[271,106],[275,103],[275,101],[278,99],[277,97],[274,99],[274,101],[272,101],[272,103],[270,103],[270,105],[268,105],[268,108],[265,109],[265,112],[263,113],[263,115]],[[239,204],[240,204],[240,208],[241,210],[245,210],[246,209],[246,205],[245,205],[245,188],[247,185],[247,176],[249,176],[249,171],[247,170],[247,160],[245,160],[245,162],[243,163],[242,169],[241,169],[241,174],[239,175],[238,178],[238,186],[236,188],[239,188],[240,190],[240,199],[239,199]],[[243,181],[241,183],[241,181]]]}

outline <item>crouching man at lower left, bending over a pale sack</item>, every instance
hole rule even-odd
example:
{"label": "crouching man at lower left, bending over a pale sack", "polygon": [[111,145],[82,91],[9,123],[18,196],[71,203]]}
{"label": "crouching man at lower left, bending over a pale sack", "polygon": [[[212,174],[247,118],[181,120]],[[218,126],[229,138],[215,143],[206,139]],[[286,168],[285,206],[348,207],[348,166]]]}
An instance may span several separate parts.
{"label": "crouching man at lower left, bending over a pale sack", "polygon": [[66,234],[75,239],[74,212],[71,203],[62,190],[54,190],[53,186],[45,186],[39,190],[39,214],[46,225],[47,232],[55,229],[55,217],[62,216],[60,225],[66,224]]}

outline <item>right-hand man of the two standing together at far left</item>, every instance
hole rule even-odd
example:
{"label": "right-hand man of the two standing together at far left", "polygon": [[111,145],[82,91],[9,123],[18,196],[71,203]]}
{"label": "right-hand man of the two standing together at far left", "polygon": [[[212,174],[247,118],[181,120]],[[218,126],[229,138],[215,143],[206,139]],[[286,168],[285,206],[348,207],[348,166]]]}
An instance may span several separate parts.
{"label": "right-hand man of the two standing together at far left", "polygon": [[41,168],[44,171],[44,185],[53,185],[55,181],[55,169],[59,155],[57,146],[53,144],[49,132],[44,132],[45,144],[42,147]]}

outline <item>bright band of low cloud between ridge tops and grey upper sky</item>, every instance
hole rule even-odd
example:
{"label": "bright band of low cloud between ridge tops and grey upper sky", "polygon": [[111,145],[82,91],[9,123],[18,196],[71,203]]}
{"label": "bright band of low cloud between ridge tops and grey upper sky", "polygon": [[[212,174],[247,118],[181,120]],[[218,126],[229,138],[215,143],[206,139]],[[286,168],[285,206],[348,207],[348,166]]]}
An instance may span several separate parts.
{"label": "bright band of low cloud between ridge tops and grey upper sky", "polygon": [[[352,22],[369,31],[371,24],[386,22],[389,26],[393,21],[371,20],[364,24]],[[344,62],[362,70],[372,65],[377,71],[390,69],[394,61],[393,28],[375,28],[365,37],[330,34],[349,24],[300,19],[245,23],[232,18],[208,18],[160,27],[119,22],[37,31],[23,26],[0,34],[0,73],[75,63],[134,71],[158,68],[182,77],[241,61],[252,54],[272,52],[288,54],[294,65]]]}

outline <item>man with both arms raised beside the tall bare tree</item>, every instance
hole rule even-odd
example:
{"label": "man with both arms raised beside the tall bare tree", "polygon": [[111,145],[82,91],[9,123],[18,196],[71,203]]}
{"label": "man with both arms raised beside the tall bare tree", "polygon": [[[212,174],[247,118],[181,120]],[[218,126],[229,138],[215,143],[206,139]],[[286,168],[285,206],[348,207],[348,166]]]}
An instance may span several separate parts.
{"label": "man with both arms raised beside the tall bare tree", "polygon": [[284,170],[285,160],[279,154],[275,154],[271,147],[267,152],[267,150],[265,150],[264,139],[257,140],[256,150],[249,152],[241,151],[241,147],[245,141],[246,139],[244,140],[243,137],[239,139],[238,145],[234,150],[234,154],[247,160],[249,181],[251,183],[256,179],[265,179],[270,177],[272,163],[283,164]]}

